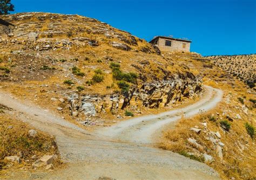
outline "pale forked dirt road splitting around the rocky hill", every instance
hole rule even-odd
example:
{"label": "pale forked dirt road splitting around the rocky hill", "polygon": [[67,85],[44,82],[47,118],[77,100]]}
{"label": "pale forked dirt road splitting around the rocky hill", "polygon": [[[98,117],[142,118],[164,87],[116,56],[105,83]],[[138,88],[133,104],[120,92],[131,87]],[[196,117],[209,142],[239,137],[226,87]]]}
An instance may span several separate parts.
{"label": "pale forked dirt road splitting around the rocky hill", "polygon": [[60,155],[68,165],[53,172],[17,172],[10,178],[44,179],[219,179],[204,163],[190,160],[170,151],[157,149],[152,134],[165,124],[193,116],[217,106],[223,92],[205,86],[206,93],[198,102],[157,115],[136,117],[101,128],[94,133],[78,128],[64,119],[16,100],[0,91],[0,103],[15,110],[17,119],[56,136]]}

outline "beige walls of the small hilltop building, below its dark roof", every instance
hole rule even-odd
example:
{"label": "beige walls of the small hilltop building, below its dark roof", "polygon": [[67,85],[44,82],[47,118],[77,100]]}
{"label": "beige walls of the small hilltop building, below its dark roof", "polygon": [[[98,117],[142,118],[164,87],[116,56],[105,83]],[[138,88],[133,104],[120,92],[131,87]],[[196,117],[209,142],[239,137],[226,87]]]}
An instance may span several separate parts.
{"label": "beige walls of the small hilltop building, below its dark roof", "polygon": [[[166,40],[169,40],[172,42],[171,46],[165,45]],[[189,42],[159,38],[156,43],[157,43],[156,46],[158,46],[160,51],[190,52],[190,43]]]}

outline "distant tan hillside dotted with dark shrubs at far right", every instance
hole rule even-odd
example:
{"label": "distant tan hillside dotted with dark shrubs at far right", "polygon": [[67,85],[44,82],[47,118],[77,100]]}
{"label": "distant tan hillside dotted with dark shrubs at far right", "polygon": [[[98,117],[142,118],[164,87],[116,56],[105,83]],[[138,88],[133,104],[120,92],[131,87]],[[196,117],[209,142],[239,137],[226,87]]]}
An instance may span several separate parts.
{"label": "distant tan hillside dotted with dark shrubs at far right", "polygon": [[246,82],[251,88],[256,83],[256,54],[207,56],[213,64]]}

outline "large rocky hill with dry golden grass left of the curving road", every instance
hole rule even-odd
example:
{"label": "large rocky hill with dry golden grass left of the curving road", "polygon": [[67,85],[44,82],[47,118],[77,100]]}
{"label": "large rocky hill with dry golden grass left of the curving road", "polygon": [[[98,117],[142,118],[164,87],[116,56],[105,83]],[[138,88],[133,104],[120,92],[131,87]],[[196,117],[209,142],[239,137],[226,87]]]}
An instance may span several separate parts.
{"label": "large rocky hill with dry golden grass left of the curving road", "polygon": [[0,38],[1,86],[77,124],[153,113],[203,92],[190,68],[96,19],[53,13],[1,18],[16,26]]}

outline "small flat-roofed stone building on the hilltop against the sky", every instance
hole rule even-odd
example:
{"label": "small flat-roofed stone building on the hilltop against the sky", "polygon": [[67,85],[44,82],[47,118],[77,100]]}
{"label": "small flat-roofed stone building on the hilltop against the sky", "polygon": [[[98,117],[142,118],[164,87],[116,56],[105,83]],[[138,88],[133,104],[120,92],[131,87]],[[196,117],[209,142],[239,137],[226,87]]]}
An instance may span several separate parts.
{"label": "small flat-roofed stone building on the hilltop against the sky", "polygon": [[191,40],[176,39],[172,37],[157,36],[150,43],[156,45],[160,51],[190,52]]}

